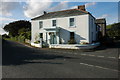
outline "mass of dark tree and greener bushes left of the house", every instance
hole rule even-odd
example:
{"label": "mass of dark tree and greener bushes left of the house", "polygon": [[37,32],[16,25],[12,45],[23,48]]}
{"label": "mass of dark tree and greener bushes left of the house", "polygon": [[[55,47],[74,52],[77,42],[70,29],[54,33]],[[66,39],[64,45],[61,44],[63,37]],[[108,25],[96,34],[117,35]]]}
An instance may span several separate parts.
{"label": "mass of dark tree and greener bushes left of the house", "polygon": [[9,35],[3,35],[7,40],[25,42],[25,39],[31,40],[31,23],[29,21],[11,22],[3,28],[9,32]]}

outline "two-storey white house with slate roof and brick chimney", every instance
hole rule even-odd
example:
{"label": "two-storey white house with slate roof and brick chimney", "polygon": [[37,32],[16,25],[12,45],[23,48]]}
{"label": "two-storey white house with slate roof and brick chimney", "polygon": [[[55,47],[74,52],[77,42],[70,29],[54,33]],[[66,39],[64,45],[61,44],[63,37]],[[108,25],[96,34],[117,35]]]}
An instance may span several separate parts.
{"label": "two-storey white house with slate roof and brick chimney", "polygon": [[31,19],[31,44],[42,38],[46,45],[68,44],[74,39],[80,42],[92,43],[97,40],[97,25],[95,17],[86,11],[85,5],[77,9],[56,12],[44,12],[43,15]]}

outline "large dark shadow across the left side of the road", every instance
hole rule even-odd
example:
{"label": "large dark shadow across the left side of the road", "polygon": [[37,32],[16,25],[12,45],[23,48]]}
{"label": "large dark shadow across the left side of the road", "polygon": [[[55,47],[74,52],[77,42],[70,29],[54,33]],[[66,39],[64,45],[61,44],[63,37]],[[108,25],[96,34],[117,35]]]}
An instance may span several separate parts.
{"label": "large dark shadow across the left side of the road", "polygon": [[[16,42],[3,41],[2,65],[20,65],[26,63],[62,64],[49,62],[49,60],[58,58],[72,59],[71,57],[61,56],[58,54],[50,54],[49,51],[29,48]],[[38,60],[38,62],[34,62],[32,60]],[[42,60],[47,60],[47,62],[43,62]]]}

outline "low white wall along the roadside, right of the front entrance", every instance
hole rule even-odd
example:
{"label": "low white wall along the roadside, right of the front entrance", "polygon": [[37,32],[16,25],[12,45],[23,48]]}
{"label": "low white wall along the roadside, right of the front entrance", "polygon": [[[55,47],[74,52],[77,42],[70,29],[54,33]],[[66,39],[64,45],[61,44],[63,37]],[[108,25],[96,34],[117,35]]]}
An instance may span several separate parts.
{"label": "low white wall along the roadside, right of the front entrance", "polygon": [[51,44],[49,48],[64,48],[64,49],[93,49],[99,46],[100,43],[93,44]]}

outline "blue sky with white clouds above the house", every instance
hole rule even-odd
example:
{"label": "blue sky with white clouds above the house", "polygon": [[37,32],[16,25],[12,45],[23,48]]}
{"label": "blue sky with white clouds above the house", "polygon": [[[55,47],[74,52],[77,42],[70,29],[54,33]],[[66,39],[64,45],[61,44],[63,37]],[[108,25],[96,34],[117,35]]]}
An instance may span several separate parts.
{"label": "blue sky with white clouds above the house", "polygon": [[2,28],[4,25],[18,20],[31,20],[42,15],[43,11],[52,12],[77,8],[85,5],[86,10],[95,18],[106,18],[107,24],[118,22],[118,2],[35,2],[33,0],[24,2],[0,2],[0,34],[6,33]]}

